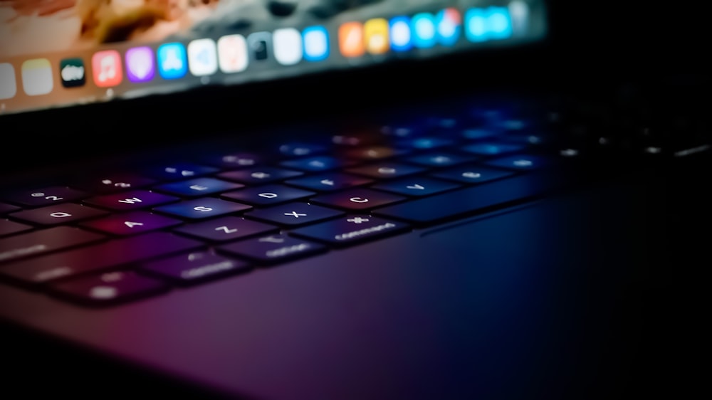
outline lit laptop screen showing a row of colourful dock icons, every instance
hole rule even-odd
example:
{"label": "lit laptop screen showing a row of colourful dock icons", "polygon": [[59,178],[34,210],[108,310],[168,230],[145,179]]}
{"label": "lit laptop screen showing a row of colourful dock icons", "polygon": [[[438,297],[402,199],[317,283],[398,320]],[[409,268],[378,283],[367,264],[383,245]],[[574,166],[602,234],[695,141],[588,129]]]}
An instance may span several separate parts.
{"label": "lit laptop screen showing a row of colourful dock icons", "polygon": [[543,0],[0,0],[0,113],[543,36]]}

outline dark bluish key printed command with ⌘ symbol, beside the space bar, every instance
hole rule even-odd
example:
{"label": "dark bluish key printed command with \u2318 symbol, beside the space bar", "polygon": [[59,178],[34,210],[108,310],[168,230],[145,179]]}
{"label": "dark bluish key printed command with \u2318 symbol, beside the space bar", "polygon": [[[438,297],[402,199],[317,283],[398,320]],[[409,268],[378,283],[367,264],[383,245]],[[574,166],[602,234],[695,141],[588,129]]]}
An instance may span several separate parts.
{"label": "dark bluish key printed command with \u2318 symbol, beside the space bar", "polygon": [[298,228],[291,233],[334,246],[348,246],[408,231],[406,223],[386,221],[373,216],[346,216],[317,225]]}

